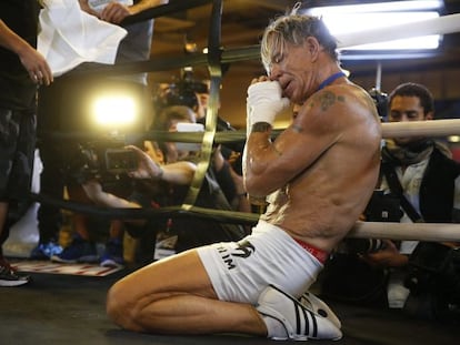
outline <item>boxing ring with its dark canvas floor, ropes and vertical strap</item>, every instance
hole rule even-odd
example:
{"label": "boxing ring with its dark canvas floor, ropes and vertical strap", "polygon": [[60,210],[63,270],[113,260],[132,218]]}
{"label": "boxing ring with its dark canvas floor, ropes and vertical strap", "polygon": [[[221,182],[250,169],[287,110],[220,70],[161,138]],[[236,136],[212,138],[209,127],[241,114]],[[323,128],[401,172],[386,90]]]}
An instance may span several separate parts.
{"label": "boxing ring with its dark canvas floor, ropes and vertical strap", "polygon": [[[222,14],[221,0],[189,0],[177,1],[168,6],[146,10],[130,17],[122,24],[137,22],[150,18],[171,14],[184,9],[203,4],[212,4],[210,12],[209,52],[197,53],[176,59],[151,59],[138,63],[120,65],[100,65],[78,73],[69,72],[62,78],[86,78],[86,75],[118,75],[138,72],[154,72],[174,70],[183,67],[206,65],[211,78],[210,105],[208,108],[204,133],[167,133],[144,132],[139,136],[144,140],[181,141],[202,143],[202,160],[198,172],[182,205],[161,207],[156,210],[128,210],[106,209],[93,205],[80,204],[68,200],[57,200],[40,193],[32,193],[34,202],[48,203],[63,210],[87,213],[104,219],[141,219],[141,217],[201,217],[213,221],[252,225],[259,215],[253,213],[228,212],[212,209],[202,209],[194,205],[197,193],[201,186],[203,174],[209,166],[212,145],[243,142],[246,131],[217,132],[217,104],[219,103],[219,90],[222,82],[222,64],[237,61],[253,60],[259,58],[260,47],[243,47],[224,50],[220,44],[220,20]],[[360,37],[342,37],[343,44],[356,42],[367,43],[384,40],[386,35],[400,37],[403,32],[409,37],[416,28],[411,23],[406,28],[396,27],[390,33],[374,31],[372,34],[363,32]],[[429,33],[449,33],[460,31],[459,14],[447,16],[429,23],[419,23],[417,30]],[[426,30],[426,31],[423,31]],[[153,38],[154,40],[154,38]],[[343,45],[342,45],[343,47]],[[273,131],[273,136],[279,130]],[[428,135],[444,136],[460,134],[460,120],[436,120],[411,123],[382,123],[383,138],[399,135]],[[46,133],[47,134],[47,133]],[[56,140],[78,141],[87,140],[88,133],[48,133]],[[438,223],[377,223],[357,222],[350,231],[350,237],[378,237],[392,240],[420,240],[420,241],[460,241],[460,224]],[[129,271],[129,268],[127,268]],[[129,273],[129,272],[128,272]],[[273,344],[273,341],[257,337],[219,334],[213,336],[174,336],[156,335],[126,332],[118,328],[107,318],[104,304],[108,288],[127,274],[126,271],[108,277],[84,278],[81,276],[61,276],[52,274],[37,274],[33,284],[24,288],[8,290],[0,294],[0,333],[3,344],[172,344],[172,345],[233,345],[233,344]],[[166,277],[168,278],[168,277]],[[369,310],[350,305],[331,303],[343,321],[344,337],[339,342],[320,341],[321,344],[348,344],[348,345],[418,345],[418,344],[452,344],[460,336],[458,325],[439,324],[429,321],[412,321],[401,313],[387,310]],[[319,343],[312,341],[313,344]]]}

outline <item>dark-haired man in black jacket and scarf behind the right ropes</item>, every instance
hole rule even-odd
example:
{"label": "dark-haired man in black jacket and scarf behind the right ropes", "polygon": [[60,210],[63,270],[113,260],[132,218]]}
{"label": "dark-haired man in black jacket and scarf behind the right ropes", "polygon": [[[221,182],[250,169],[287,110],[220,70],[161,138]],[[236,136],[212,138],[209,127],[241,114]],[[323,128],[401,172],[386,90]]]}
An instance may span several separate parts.
{"label": "dark-haired man in black jacket and scarf behind the right ropes", "polygon": [[[403,83],[390,93],[388,110],[390,122],[430,121],[434,116],[433,98],[421,84]],[[451,159],[450,151],[442,143],[423,136],[387,140],[382,148],[381,172],[379,187],[382,194],[391,195],[393,200],[396,197],[402,211],[400,220],[397,216],[390,221],[459,222],[460,165]],[[372,204],[369,206],[372,209]],[[369,217],[367,220],[376,221]],[[363,246],[363,243],[376,241],[354,240],[351,243],[361,243]],[[380,284],[386,287],[390,308],[404,308],[411,315],[433,318],[447,308],[448,303],[452,305],[456,302],[441,302],[441,294],[443,298],[450,291],[449,293],[456,294],[452,295],[453,300],[460,298],[460,288],[454,291],[456,284],[459,284],[454,277],[458,272],[449,258],[456,256],[456,244],[418,241],[399,243],[388,240],[379,242],[377,248],[368,246],[354,253],[362,264],[368,264],[368,271],[380,272]],[[449,270],[452,276],[446,277],[446,272],[442,271]],[[450,282],[448,290],[439,285],[443,281]]]}

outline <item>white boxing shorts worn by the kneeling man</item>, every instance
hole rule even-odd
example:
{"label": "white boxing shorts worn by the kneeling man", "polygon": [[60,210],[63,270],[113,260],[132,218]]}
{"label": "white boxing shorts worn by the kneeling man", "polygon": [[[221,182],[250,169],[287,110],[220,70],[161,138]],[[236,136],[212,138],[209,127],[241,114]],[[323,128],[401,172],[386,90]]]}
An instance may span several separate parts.
{"label": "white boxing shorts worn by the kneeling man", "polygon": [[219,300],[256,305],[269,284],[299,297],[314,283],[323,264],[306,246],[282,229],[259,221],[239,242],[197,251]]}

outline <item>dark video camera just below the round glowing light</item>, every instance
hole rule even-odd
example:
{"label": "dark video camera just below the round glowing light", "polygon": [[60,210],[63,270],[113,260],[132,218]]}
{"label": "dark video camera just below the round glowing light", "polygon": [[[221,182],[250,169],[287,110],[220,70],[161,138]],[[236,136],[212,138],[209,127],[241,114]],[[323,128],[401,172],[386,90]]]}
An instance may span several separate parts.
{"label": "dark video camera just below the round glowing light", "polygon": [[88,142],[76,145],[64,170],[80,184],[90,179],[116,182],[138,166],[136,152],[120,143]]}

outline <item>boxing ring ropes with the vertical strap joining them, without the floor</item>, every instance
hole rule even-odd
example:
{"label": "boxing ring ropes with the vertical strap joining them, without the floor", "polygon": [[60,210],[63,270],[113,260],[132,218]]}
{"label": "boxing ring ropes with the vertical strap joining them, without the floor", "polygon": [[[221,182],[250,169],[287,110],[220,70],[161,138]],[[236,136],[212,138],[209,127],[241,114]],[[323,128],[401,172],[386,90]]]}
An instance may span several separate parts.
{"label": "boxing ring ropes with the vertical strap joining them, without the floor", "polygon": [[[178,11],[183,11],[194,7],[211,4],[210,26],[208,37],[208,53],[194,53],[192,55],[178,57],[176,59],[151,59],[149,61],[123,63],[118,65],[99,65],[77,73],[69,72],[64,78],[84,78],[86,75],[119,75],[136,72],[154,72],[173,70],[183,67],[206,65],[210,75],[210,98],[206,115],[206,130],[203,133],[168,133],[168,132],[146,132],[140,133],[144,140],[154,141],[181,141],[201,143],[201,160],[198,163],[197,173],[189,189],[189,193],[181,206],[162,207],[159,210],[107,210],[73,203],[71,201],[54,200],[40,193],[32,193],[36,202],[49,203],[69,211],[82,212],[109,219],[120,217],[187,217],[197,216],[212,219],[214,221],[254,224],[258,214],[239,213],[228,211],[217,211],[194,206],[198,192],[201,187],[206,171],[209,168],[210,156],[213,144],[226,144],[231,142],[244,142],[246,131],[217,132],[217,109],[219,103],[219,90],[222,82],[222,65],[238,61],[258,59],[260,47],[243,47],[224,50],[220,44],[220,22],[223,10],[221,0],[194,0],[187,3],[160,6],[127,18],[121,26],[157,18]],[[338,35],[339,49],[351,45],[359,45],[371,42],[380,42],[399,38],[410,38],[424,34],[446,34],[460,31],[460,13],[443,16],[437,19],[411,22],[408,24],[394,26],[389,29],[376,29],[362,31],[360,33]],[[154,38],[153,38],[154,40]],[[273,131],[277,135],[279,131]],[[399,135],[427,135],[446,136],[460,133],[460,120],[436,120],[411,123],[382,123],[383,138],[394,138]],[[58,140],[79,140],[84,139],[82,133],[44,133]],[[400,224],[400,223],[376,223],[357,222],[349,233],[351,237],[383,237],[394,240],[426,240],[426,241],[460,241],[460,225],[454,224]]]}

